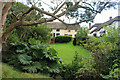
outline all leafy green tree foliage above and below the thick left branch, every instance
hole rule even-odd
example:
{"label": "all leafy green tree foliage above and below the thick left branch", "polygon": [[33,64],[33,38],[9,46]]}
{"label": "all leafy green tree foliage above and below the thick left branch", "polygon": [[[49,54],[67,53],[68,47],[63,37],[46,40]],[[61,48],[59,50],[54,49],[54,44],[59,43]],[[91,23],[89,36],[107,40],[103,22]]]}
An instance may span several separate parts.
{"label": "all leafy green tree foliage above and below the thick left branch", "polygon": [[[29,7],[18,2],[14,3],[11,7],[10,11],[14,12],[14,15],[22,13],[22,11],[28,10]],[[9,27],[11,23],[16,22],[17,18],[15,18],[13,13],[9,12],[10,14],[7,16],[7,21],[5,23],[4,31]],[[31,14],[24,17],[27,21],[34,21],[39,20],[43,15],[37,15],[36,11],[31,11]],[[50,36],[51,29],[47,27],[45,24],[40,25],[33,25],[33,26],[20,26],[16,27],[9,35],[7,39],[7,43],[11,43],[14,41],[25,41],[27,42],[30,37],[40,40],[41,42],[49,43],[51,36]]]}

